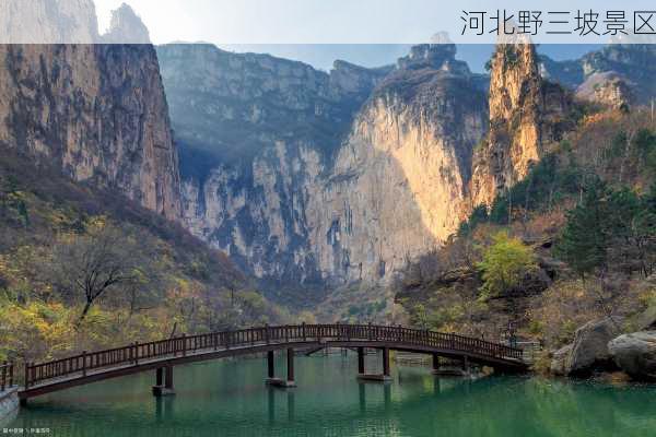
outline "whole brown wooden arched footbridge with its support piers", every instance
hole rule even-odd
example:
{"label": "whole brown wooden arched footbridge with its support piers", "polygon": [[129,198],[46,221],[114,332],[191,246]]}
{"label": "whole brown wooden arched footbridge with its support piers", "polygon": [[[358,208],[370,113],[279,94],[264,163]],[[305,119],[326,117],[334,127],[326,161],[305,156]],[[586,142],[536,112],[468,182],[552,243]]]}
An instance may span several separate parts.
{"label": "whole brown wooden arched footbridge with its support piers", "polygon": [[[82,354],[47,363],[26,363],[24,387],[19,397],[27,399],[83,386],[104,379],[155,370],[155,395],[173,393],[175,366],[223,357],[267,353],[268,379],[274,386],[294,387],[294,351],[348,347],[358,351],[359,377],[389,379],[389,351],[403,351],[438,358],[460,359],[503,371],[524,371],[523,351],[450,333],[375,324],[296,324],[249,328],[236,331],[181,335],[150,343]],[[383,351],[383,374],[368,375],[364,369],[364,350]],[[273,352],[286,350],[286,378],[276,378]]]}

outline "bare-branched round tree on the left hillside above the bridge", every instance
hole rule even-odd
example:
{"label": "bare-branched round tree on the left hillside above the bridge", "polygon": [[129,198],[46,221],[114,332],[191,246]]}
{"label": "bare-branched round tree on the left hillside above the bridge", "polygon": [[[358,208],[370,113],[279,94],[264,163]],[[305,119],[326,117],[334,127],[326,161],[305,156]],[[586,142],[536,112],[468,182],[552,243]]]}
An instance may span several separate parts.
{"label": "bare-branched round tree on the left hillside above the bridge", "polygon": [[[60,237],[52,252],[54,272],[63,293],[84,303],[79,321],[105,294],[144,283],[148,263],[134,238],[124,229],[101,223],[86,234]],[[132,288],[133,290],[133,288]]]}

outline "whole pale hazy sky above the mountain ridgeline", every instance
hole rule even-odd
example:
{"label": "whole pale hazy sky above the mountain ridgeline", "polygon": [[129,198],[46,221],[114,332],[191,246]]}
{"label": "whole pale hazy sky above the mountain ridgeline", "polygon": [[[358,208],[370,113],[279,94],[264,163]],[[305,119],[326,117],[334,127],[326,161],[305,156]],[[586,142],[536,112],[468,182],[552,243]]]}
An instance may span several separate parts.
{"label": "whole pale hazy sky above the mountain ridgeline", "polygon": [[[452,38],[461,32],[462,10],[508,11],[527,9],[519,0],[94,0],[101,31],[109,24],[110,11],[124,1],[141,16],[154,44],[209,42],[234,51],[270,52],[328,70],[335,59],[365,67],[393,63],[412,44],[426,43],[438,31]],[[585,8],[595,10],[656,9],[653,1],[609,0],[531,1],[531,10],[548,11]],[[629,13],[628,13],[629,14]],[[656,19],[655,19],[656,21]],[[492,36],[457,40],[459,58],[475,71],[482,71]],[[555,59],[573,59],[590,50],[588,39],[558,49],[543,46]],[[372,46],[376,44],[376,46]],[[318,46],[320,45],[320,46]]]}

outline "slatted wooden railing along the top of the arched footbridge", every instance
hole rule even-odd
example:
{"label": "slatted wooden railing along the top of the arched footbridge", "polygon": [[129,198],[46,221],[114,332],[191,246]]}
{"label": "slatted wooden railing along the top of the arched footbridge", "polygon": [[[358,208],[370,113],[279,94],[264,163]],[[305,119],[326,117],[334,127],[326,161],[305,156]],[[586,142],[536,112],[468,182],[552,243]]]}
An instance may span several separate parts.
{"label": "slatted wooden railing along the top of the arched footbridge", "polygon": [[25,388],[71,375],[85,376],[102,368],[138,365],[143,361],[186,356],[271,343],[307,341],[370,341],[417,345],[478,354],[491,358],[522,361],[522,350],[452,333],[376,324],[293,324],[181,335],[97,352],[83,352],[47,363],[25,364]]}

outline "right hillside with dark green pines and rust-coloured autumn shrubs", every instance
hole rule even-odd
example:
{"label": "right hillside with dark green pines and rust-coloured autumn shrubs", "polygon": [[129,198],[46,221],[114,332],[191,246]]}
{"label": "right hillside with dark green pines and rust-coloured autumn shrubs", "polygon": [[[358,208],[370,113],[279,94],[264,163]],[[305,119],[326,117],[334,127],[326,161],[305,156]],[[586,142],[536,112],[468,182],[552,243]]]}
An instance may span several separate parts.
{"label": "right hillside with dark green pines and rust-coloured autumn shrubs", "polygon": [[[656,304],[655,132],[646,109],[583,117],[524,179],[408,270],[397,300],[411,321],[492,338],[518,332],[550,349],[599,317],[634,322]],[[490,293],[490,265],[513,239],[537,268],[519,263],[514,286],[494,281]]]}

